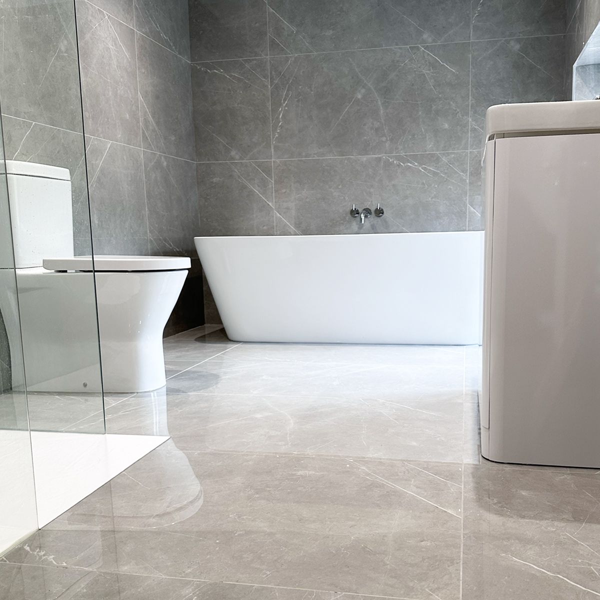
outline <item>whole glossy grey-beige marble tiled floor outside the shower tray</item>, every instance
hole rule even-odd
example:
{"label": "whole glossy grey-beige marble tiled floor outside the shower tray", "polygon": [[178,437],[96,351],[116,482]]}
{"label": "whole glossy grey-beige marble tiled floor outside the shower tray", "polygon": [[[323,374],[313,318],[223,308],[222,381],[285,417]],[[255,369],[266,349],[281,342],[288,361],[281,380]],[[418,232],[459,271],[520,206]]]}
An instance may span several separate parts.
{"label": "whole glossy grey-beige marble tiled floor outside the shower tray", "polygon": [[106,418],[172,440],[1,559],[1,600],[600,596],[599,475],[480,460],[478,349],[165,349]]}

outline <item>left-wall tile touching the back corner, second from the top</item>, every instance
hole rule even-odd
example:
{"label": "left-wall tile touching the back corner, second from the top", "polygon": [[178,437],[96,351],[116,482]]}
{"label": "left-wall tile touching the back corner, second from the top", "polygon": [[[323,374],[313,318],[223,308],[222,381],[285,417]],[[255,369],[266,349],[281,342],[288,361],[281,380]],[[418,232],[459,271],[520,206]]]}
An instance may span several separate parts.
{"label": "left-wall tile touching the back corner, second from the top", "polygon": [[136,34],[142,146],[194,159],[190,64]]}

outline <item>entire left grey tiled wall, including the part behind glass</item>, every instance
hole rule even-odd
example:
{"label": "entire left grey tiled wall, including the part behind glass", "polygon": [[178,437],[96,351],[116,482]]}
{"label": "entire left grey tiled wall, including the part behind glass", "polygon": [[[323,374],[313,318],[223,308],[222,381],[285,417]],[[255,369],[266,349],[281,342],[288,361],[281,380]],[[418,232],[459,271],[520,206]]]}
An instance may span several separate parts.
{"label": "entire left grey tiled wall, including the part behind glass", "polygon": [[[91,251],[85,122],[94,251],[196,256],[187,0],[77,0],[77,23],[72,0],[5,4],[7,158],[70,170],[77,253]],[[196,258],[167,333],[202,320]]]}

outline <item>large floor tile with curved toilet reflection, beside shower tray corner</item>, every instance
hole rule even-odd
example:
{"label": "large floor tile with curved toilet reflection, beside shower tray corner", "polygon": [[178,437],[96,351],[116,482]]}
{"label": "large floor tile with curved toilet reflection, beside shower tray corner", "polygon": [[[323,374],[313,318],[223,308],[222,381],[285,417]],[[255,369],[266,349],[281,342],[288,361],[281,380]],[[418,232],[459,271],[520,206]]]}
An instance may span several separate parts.
{"label": "large floor tile with curved toilet reflection, beside shower tray corner", "polygon": [[418,467],[154,452],[5,559],[458,599],[462,467]]}

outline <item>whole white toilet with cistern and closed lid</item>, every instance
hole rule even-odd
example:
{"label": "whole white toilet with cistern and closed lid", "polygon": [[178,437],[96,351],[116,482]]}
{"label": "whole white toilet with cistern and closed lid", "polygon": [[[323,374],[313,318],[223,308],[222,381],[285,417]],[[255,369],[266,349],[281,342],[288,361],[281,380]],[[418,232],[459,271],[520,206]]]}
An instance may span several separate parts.
{"label": "whole white toilet with cistern and closed lid", "polygon": [[[94,256],[97,322],[92,257],[73,256],[68,169],[6,165],[29,391],[142,392],[164,386],[163,329],[190,259]],[[0,296],[0,310],[10,301]]]}

